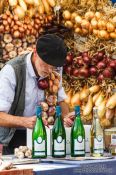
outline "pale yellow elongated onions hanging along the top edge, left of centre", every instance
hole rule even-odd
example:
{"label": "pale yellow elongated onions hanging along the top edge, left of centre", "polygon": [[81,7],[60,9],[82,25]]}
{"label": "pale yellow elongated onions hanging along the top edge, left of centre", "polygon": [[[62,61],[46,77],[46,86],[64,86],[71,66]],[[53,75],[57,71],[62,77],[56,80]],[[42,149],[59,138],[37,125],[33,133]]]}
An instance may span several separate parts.
{"label": "pale yellow elongated onions hanging along the top edge, left of centre", "polygon": [[55,0],[8,0],[8,5],[19,19],[23,19],[26,15],[32,18],[36,12],[51,14]]}

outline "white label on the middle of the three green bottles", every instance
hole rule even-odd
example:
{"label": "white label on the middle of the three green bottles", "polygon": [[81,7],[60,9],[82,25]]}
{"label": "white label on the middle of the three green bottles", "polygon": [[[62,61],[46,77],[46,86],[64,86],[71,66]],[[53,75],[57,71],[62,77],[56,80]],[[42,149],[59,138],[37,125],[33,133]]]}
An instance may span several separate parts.
{"label": "white label on the middle of the three green bottles", "polygon": [[58,136],[57,140],[54,140],[54,155],[65,154],[65,140],[61,136]]}

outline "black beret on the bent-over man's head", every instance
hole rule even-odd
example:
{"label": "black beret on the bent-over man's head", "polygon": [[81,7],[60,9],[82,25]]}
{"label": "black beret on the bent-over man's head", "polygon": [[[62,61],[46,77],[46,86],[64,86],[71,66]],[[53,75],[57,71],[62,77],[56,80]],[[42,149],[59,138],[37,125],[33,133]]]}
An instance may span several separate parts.
{"label": "black beret on the bent-over man's head", "polygon": [[63,66],[67,55],[67,47],[63,39],[55,34],[46,34],[39,37],[36,51],[43,61],[56,67]]}

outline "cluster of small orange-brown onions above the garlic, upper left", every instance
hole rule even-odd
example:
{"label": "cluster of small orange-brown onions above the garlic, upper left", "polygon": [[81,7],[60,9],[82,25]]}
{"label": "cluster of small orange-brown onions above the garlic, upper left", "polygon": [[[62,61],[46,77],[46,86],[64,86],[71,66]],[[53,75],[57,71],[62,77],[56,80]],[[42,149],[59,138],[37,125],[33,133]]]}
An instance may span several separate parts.
{"label": "cluster of small orange-brown onions above the garlic, upper left", "polygon": [[43,32],[43,27],[51,25],[52,19],[52,15],[39,15],[35,13],[33,19],[25,17],[21,21],[17,15],[6,11],[0,16],[0,33],[11,33],[14,38],[23,38],[25,35],[38,37],[39,33]]}

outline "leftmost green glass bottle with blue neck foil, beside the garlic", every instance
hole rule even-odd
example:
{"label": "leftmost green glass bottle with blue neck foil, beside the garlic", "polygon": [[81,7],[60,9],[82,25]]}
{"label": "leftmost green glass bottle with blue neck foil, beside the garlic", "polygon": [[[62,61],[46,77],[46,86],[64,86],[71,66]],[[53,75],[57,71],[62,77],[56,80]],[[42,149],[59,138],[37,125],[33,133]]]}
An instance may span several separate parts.
{"label": "leftmost green glass bottle with blue neck foil, beside the garlic", "polygon": [[36,124],[32,132],[32,157],[47,157],[47,135],[44,123],[42,121],[42,109],[40,106],[36,108]]}

